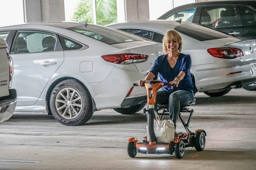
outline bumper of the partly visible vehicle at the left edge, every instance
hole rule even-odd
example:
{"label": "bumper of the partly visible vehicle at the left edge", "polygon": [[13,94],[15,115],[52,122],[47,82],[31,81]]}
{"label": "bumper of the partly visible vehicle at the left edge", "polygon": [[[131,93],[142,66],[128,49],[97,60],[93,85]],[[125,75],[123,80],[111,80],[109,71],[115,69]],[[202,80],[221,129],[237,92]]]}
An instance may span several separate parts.
{"label": "bumper of the partly visible vehicle at the left edge", "polygon": [[16,90],[10,89],[9,96],[0,97],[0,122],[9,120],[16,107]]}

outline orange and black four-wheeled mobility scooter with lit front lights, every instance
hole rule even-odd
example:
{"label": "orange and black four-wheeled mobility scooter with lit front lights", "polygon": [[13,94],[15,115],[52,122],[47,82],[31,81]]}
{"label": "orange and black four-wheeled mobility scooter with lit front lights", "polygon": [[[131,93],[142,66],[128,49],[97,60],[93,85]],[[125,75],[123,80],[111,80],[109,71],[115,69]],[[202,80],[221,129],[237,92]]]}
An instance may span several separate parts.
{"label": "orange and black four-wheeled mobility scooter with lit front lights", "polygon": [[[138,84],[134,84],[138,86]],[[188,109],[186,106],[181,106],[180,112],[190,112],[187,122],[181,117],[179,113],[179,118],[187,132],[175,132],[174,141],[170,143],[158,143],[152,141],[156,139],[154,132],[154,119],[156,103],[156,93],[159,88],[163,86],[170,86],[169,83],[162,83],[159,80],[149,80],[144,83],[147,90],[147,109],[144,109],[144,113],[147,113],[147,141],[139,142],[137,138],[130,138],[128,140],[127,152],[131,158],[134,158],[137,153],[141,154],[173,154],[175,152],[176,158],[183,158],[184,150],[186,147],[195,147],[197,151],[203,151],[205,148],[205,136],[206,133],[203,129],[197,129],[195,133],[188,129],[189,122],[191,120],[193,109]],[[190,105],[190,104],[189,104]],[[162,112],[162,113],[160,113]],[[158,105],[157,114],[163,118],[163,115],[169,114],[168,105]]]}

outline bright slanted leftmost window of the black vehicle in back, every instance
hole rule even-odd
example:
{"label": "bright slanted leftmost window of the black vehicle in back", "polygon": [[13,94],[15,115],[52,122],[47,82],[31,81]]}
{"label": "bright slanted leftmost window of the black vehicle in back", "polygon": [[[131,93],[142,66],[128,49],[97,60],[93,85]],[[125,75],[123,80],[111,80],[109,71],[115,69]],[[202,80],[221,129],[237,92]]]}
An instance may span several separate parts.
{"label": "bright slanted leftmost window of the black vehicle in back", "polygon": [[183,22],[192,22],[195,11],[196,7],[183,9],[180,11],[176,11],[175,13],[172,13],[170,15],[167,15],[163,19],[172,21],[180,20]]}

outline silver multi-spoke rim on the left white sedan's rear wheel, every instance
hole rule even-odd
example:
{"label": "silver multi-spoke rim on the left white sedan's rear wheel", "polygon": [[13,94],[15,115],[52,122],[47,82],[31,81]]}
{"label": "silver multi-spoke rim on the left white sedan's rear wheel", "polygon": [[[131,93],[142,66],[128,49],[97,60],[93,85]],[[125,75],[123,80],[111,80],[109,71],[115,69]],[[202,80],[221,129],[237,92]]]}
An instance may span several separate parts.
{"label": "silver multi-spoke rim on the left white sedan's rear wheel", "polygon": [[81,95],[73,88],[63,88],[56,96],[55,105],[61,117],[75,118],[82,111]]}

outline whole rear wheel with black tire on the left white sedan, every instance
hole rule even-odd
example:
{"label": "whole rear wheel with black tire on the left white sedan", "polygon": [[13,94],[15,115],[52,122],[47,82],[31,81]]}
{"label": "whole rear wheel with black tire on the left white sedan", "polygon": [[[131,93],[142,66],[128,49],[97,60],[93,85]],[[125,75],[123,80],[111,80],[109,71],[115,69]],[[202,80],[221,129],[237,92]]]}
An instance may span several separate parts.
{"label": "whole rear wheel with black tire on the left white sedan", "polygon": [[52,90],[49,105],[52,115],[63,125],[82,125],[93,114],[92,97],[75,80],[57,84]]}

